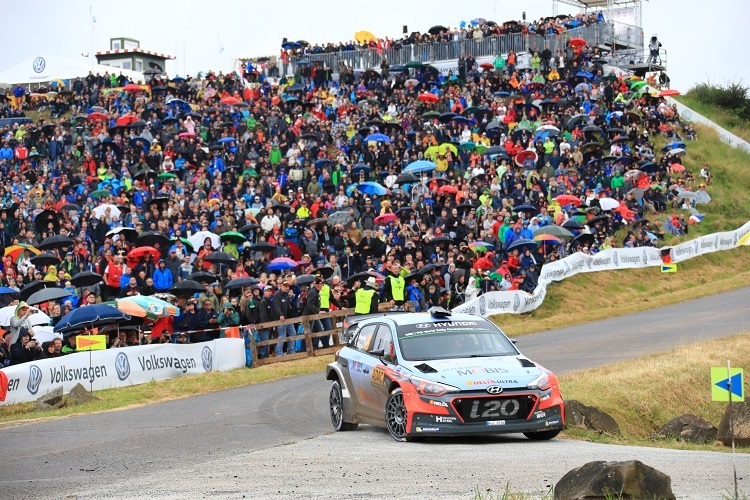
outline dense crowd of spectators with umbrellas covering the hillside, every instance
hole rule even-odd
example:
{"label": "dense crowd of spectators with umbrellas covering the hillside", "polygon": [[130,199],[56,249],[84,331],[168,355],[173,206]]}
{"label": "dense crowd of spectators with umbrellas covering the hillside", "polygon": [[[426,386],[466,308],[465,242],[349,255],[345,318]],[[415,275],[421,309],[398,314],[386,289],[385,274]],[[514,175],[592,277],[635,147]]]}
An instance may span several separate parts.
{"label": "dense crowd of spectators with umbrellas covering the hillside", "polygon": [[[354,307],[364,286],[396,308],[450,308],[493,290],[533,291],[545,263],[575,251],[657,245],[662,227],[646,216],[677,213],[680,193],[704,189],[706,177],[681,164],[684,144],[660,151],[654,140],[694,136],[598,56],[568,44],[534,53],[525,70],[510,53],[482,65],[461,57],[448,74],[425,64],[340,79],[298,71],[278,85],[253,68],[154,74],[143,88],[114,75],[76,79],[46,101],[56,117],[0,131],[0,285],[70,290],[38,306],[53,324],[85,304],[158,295],[179,314],[151,325],[151,340],[200,342]],[[4,116],[28,111],[15,90]],[[669,221],[676,234],[688,229],[684,216]],[[535,241],[551,227],[569,234]],[[208,236],[191,242],[198,233]],[[36,246],[55,235],[72,243],[49,250],[56,263],[35,265]],[[210,258],[216,251],[227,257]],[[83,272],[102,282],[75,287]],[[227,287],[241,278],[253,284]],[[180,291],[186,280],[203,289]],[[143,339],[131,329],[110,342]],[[280,343],[274,354],[319,346]]]}

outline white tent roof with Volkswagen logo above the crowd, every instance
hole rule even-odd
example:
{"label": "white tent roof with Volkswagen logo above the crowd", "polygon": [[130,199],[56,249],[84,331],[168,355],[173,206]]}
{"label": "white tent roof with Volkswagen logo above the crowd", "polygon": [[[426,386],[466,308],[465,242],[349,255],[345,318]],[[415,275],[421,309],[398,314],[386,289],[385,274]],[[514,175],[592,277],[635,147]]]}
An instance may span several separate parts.
{"label": "white tent roof with Volkswagen logo above the crowd", "polygon": [[90,64],[84,60],[76,61],[57,56],[30,57],[15,66],[0,71],[0,83],[11,85],[33,84],[51,82],[53,80],[70,80],[76,77],[85,78],[92,71],[94,74],[103,75],[109,71],[111,74],[122,73],[134,83],[143,82],[143,74],[137,71],[114,68],[101,64]]}

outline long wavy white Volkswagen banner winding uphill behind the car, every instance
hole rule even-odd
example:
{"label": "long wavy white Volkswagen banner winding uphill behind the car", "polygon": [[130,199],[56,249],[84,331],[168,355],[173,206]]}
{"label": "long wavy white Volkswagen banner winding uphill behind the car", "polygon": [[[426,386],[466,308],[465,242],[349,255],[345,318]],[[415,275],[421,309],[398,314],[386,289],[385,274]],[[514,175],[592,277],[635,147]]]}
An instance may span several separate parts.
{"label": "long wavy white Volkswagen banner winding uphill behind the car", "polygon": [[[676,264],[700,255],[731,250],[743,244],[747,245],[740,240],[748,233],[750,233],[750,222],[734,231],[708,234],[675,245],[669,249],[669,255],[672,263]],[[656,267],[662,264],[661,249],[656,247],[613,248],[595,255],[576,252],[564,259],[545,264],[539,275],[539,284],[533,293],[521,290],[488,292],[455,307],[453,311],[481,316],[531,312],[542,305],[547,293],[547,285],[553,281],[561,281],[578,273]]]}

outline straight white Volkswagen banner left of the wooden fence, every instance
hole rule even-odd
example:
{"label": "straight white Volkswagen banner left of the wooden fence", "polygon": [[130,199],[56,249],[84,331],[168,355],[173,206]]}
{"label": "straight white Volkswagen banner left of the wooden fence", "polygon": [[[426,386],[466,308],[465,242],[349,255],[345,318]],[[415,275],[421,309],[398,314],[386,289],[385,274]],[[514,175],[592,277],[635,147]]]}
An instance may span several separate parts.
{"label": "straight white Volkswagen banner left of the wooden fence", "polygon": [[67,394],[79,383],[96,391],[244,366],[242,339],[149,344],[91,351],[90,357],[89,352],[78,352],[3,368],[8,396],[0,404],[34,401],[61,386]]}

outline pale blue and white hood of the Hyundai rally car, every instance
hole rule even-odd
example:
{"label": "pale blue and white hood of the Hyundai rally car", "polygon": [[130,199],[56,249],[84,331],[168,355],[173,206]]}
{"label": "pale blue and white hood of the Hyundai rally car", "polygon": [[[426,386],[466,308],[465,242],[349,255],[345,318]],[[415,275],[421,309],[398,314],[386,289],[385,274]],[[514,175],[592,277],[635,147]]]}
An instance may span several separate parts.
{"label": "pale blue and white hood of the Hyundai rally car", "polygon": [[404,364],[420,378],[452,385],[462,391],[484,389],[491,385],[499,385],[503,389],[526,387],[542,373],[524,356],[440,359]]}

